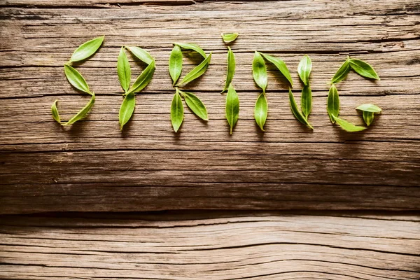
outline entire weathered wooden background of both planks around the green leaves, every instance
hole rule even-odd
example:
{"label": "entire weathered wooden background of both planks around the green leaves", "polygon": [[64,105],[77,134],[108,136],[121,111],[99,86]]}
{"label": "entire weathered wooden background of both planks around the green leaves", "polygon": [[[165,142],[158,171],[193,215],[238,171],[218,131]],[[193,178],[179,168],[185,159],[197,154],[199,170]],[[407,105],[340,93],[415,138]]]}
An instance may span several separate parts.
{"label": "entire weathered wooden background of both planks around the green leaves", "polygon": [[[1,278],[420,278],[418,1],[0,0],[0,7]],[[227,52],[220,34],[229,31],[240,34],[232,45],[241,102],[232,136],[220,94]],[[50,116],[55,99],[63,119],[89,99],[62,65],[101,35],[99,52],[77,66],[97,101],[85,120],[59,127]],[[187,87],[210,120],[186,109],[179,134],[169,120],[174,41],[213,52],[207,73]],[[121,45],[146,48],[157,64],[123,132]],[[293,118],[272,66],[267,131],[259,131],[255,50],[283,58],[297,98],[297,64],[310,55],[313,132]],[[331,125],[325,109],[328,80],[346,55],[381,77],[350,73],[339,83],[346,120],[363,125],[354,109],[363,103],[384,110],[354,134]],[[133,76],[144,69],[130,60]],[[186,73],[196,61],[184,63]],[[209,209],[222,212],[201,212]],[[304,212],[226,212],[234,209]],[[181,212],[109,214],[160,210]],[[343,210],[357,211],[335,212]]]}

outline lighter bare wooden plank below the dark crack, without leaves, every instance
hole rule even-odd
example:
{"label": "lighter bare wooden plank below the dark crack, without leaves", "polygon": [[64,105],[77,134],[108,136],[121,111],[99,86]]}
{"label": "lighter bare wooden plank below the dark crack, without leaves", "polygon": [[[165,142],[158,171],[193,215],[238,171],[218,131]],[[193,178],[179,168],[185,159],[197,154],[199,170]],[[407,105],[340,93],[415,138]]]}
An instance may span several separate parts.
{"label": "lighter bare wooden plank below the dark crack, without leaves", "polygon": [[2,279],[420,277],[419,216],[409,214],[3,216],[0,224]]}

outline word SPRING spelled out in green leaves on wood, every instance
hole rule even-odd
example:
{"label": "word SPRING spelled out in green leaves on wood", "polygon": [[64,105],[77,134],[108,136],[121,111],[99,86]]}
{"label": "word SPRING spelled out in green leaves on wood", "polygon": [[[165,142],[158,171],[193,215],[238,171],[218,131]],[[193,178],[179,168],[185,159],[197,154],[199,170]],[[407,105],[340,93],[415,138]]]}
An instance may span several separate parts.
{"label": "word SPRING spelled out in green leaves on wood", "polygon": [[[222,34],[223,42],[227,45],[235,41],[237,37],[237,33]],[[57,108],[58,100],[55,100],[51,106],[52,118],[54,118],[54,120],[56,120],[60,125],[72,125],[73,123],[76,123],[76,121],[84,118],[92,108],[95,100],[95,94],[90,90],[90,87],[87,85],[87,82],[85,78],[83,78],[82,74],[73,68],[71,64],[73,64],[73,62],[83,61],[94,55],[94,53],[99,50],[103,42],[104,36],[101,36],[83,43],[73,52],[69,62],[64,64],[64,74],[66,75],[67,80],[69,80],[69,83],[75,87],[76,90],[89,94],[90,100],[83,109],[78,111],[78,113],[67,121],[61,120]],[[126,51],[131,52],[134,57],[147,65],[146,69],[140,73],[132,85],[132,73],[130,63],[125,53]],[[197,54],[202,57],[202,61],[186,73],[186,75],[179,81],[183,68],[183,52],[185,51],[197,52]],[[172,85],[175,90],[174,98],[172,99],[172,104],[170,106],[170,116],[174,132],[178,132],[183,123],[183,100],[196,116],[205,121],[209,120],[206,106],[202,100],[192,92],[180,90],[180,87],[183,87],[206,73],[210,61],[211,52],[207,55],[199,45],[194,43],[174,43],[174,48],[169,56],[169,76],[172,78]],[[258,127],[260,127],[260,130],[265,131],[264,125],[268,116],[268,102],[266,97],[268,78],[266,62],[273,64],[285,78],[289,87],[288,97],[290,110],[293,116],[300,123],[308,127],[309,130],[314,130],[314,127],[312,127],[308,120],[312,106],[312,92],[310,85],[312,62],[310,57],[308,55],[304,55],[297,66],[297,73],[303,84],[299,109],[292,92],[293,80],[290,76],[290,71],[288,70],[286,63],[278,57],[267,55],[264,52],[255,51],[252,62],[253,80],[255,81],[255,84],[260,87],[262,92],[258,95],[255,102],[254,118]],[[232,134],[239,119],[239,96],[235,87],[232,85],[232,80],[235,75],[235,67],[235,54],[232,51],[232,48],[228,46],[228,73],[226,74],[225,86],[223,87],[223,90],[221,90],[221,93],[223,94],[224,92],[227,92],[225,113],[230,127],[230,134]],[[364,78],[379,80],[379,76],[370,64],[367,64],[360,59],[347,57],[346,61],[339,67],[337,72],[331,78],[327,100],[327,113],[330,117],[331,123],[339,125],[346,132],[359,132],[365,130],[367,127],[356,126],[346,120],[343,120],[342,118],[339,118],[339,95],[335,85],[342,82],[351,70]],[[123,130],[124,125],[127,124],[130,118],[132,118],[132,114],[134,113],[134,108],[136,106],[136,94],[141,92],[141,90],[143,90],[151,82],[154,73],[155,58],[152,57],[146,50],[136,46],[121,47],[117,62],[118,80],[120,80],[121,87],[124,90],[124,99],[119,112],[121,130]],[[369,126],[374,120],[374,114],[381,112],[381,108],[374,104],[361,104],[356,107],[356,110],[362,112],[363,120],[367,126]]]}

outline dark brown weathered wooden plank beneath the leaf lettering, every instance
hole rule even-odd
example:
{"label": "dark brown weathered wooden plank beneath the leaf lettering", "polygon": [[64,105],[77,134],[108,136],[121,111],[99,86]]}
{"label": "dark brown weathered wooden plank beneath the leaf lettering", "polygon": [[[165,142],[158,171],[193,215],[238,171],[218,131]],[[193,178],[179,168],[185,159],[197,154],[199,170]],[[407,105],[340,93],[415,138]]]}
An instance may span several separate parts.
{"label": "dark brown weathered wooden plank beneath the leaf lettering", "polygon": [[[420,6],[416,1],[0,1],[0,213],[151,211],[164,209],[420,209]],[[241,111],[232,136],[225,120],[226,46],[237,31],[233,83]],[[89,116],[62,128],[89,97],[73,90],[62,64],[80,44],[105,35],[102,48],[78,66],[97,102]],[[207,73],[187,88],[209,111],[204,123],[186,110],[174,134],[174,94],[167,60],[174,41],[214,52]],[[137,95],[127,129],[118,129],[121,45],[156,58]],[[287,88],[269,66],[267,132],[253,106],[253,51],[296,68],[310,55],[314,106],[304,128],[290,113]],[[368,130],[343,132],[325,110],[328,80],[346,55],[374,66],[380,81],[350,73],[338,86],[341,116],[363,124],[354,109],[384,110]],[[139,73],[144,65],[134,65]],[[195,65],[185,59],[186,70]],[[184,70],[184,74],[186,73]],[[134,76],[134,75],[133,75]]]}

